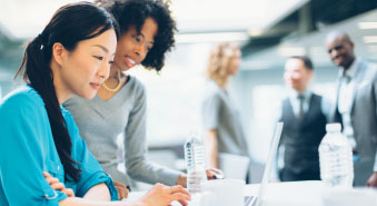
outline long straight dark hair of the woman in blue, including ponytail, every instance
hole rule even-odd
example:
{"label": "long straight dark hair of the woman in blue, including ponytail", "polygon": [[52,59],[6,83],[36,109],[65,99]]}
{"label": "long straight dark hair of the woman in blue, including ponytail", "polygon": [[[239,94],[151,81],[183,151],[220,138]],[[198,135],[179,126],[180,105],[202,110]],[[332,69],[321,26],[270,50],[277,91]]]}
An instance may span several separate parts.
{"label": "long straight dark hair of the woman in blue, including ponytail", "polygon": [[109,29],[115,29],[118,38],[118,26],[103,8],[89,2],[61,7],[42,33],[28,43],[22,63],[16,73],[17,77],[24,69],[23,80],[43,99],[54,146],[65,167],[67,180],[78,182],[81,169],[80,163],[71,158],[72,143],[53,86],[52,70],[49,66],[52,46],[60,42],[67,50],[72,51],[79,41],[98,37]]}

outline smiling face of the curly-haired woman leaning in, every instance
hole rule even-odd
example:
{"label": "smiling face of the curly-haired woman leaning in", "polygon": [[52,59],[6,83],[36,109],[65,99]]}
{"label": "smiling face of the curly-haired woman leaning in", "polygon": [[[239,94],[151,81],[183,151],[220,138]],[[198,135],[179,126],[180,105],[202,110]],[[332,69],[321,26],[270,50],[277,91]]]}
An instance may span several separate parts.
{"label": "smiling face of the curly-haired woman leaning in", "polygon": [[147,18],[140,35],[135,27],[121,35],[115,58],[115,65],[122,71],[127,71],[136,65],[140,63],[153,47],[155,36],[158,26],[152,18]]}

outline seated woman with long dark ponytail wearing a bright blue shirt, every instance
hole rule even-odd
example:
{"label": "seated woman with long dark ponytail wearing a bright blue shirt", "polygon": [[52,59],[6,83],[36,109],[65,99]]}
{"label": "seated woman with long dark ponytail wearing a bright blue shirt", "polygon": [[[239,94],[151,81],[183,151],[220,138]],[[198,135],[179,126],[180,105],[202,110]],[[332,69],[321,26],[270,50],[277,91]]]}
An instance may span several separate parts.
{"label": "seated woman with long dark ponytail wearing a bright blue shirt", "polygon": [[80,2],[60,8],[29,42],[17,72],[26,85],[0,101],[1,206],[166,206],[189,199],[181,187],[159,184],[136,203],[110,203],[118,199],[111,178],[61,107],[72,95],[95,97],[109,76],[117,39],[112,17]]}

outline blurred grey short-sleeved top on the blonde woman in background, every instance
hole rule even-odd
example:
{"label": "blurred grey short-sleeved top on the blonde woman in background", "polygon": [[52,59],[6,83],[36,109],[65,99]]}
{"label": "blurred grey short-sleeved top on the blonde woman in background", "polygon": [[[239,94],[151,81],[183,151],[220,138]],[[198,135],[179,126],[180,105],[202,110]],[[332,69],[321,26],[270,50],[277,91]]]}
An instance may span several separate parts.
{"label": "blurred grey short-sleeved top on the blonde woman in background", "polygon": [[217,131],[218,153],[249,156],[240,114],[215,81],[206,85],[201,111],[204,128]]}

